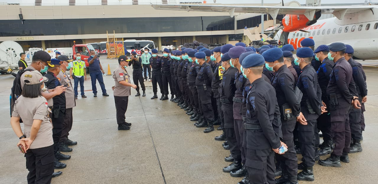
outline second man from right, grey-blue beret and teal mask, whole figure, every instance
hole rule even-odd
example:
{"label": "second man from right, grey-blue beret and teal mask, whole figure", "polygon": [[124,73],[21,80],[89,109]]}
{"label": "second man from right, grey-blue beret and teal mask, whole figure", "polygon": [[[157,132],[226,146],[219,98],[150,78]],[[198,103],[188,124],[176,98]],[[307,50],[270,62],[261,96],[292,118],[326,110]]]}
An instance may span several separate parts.
{"label": "second man from right, grey-blue beret and teal mask, whole figure", "polygon": [[356,109],[361,109],[358,101],[358,93],[353,81],[353,70],[344,58],[346,46],[343,43],[335,42],[328,45],[328,59],[335,63],[330,75],[327,87],[327,95],[330,106],[327,107],[331,115],[331,132],[335,148],[331,156],[325,160],[320,160],[319,164],[324,166],[341,167],[342,162],[349,162],[348,153],[350,151],[350,126],[349,111],[353,105]]}

